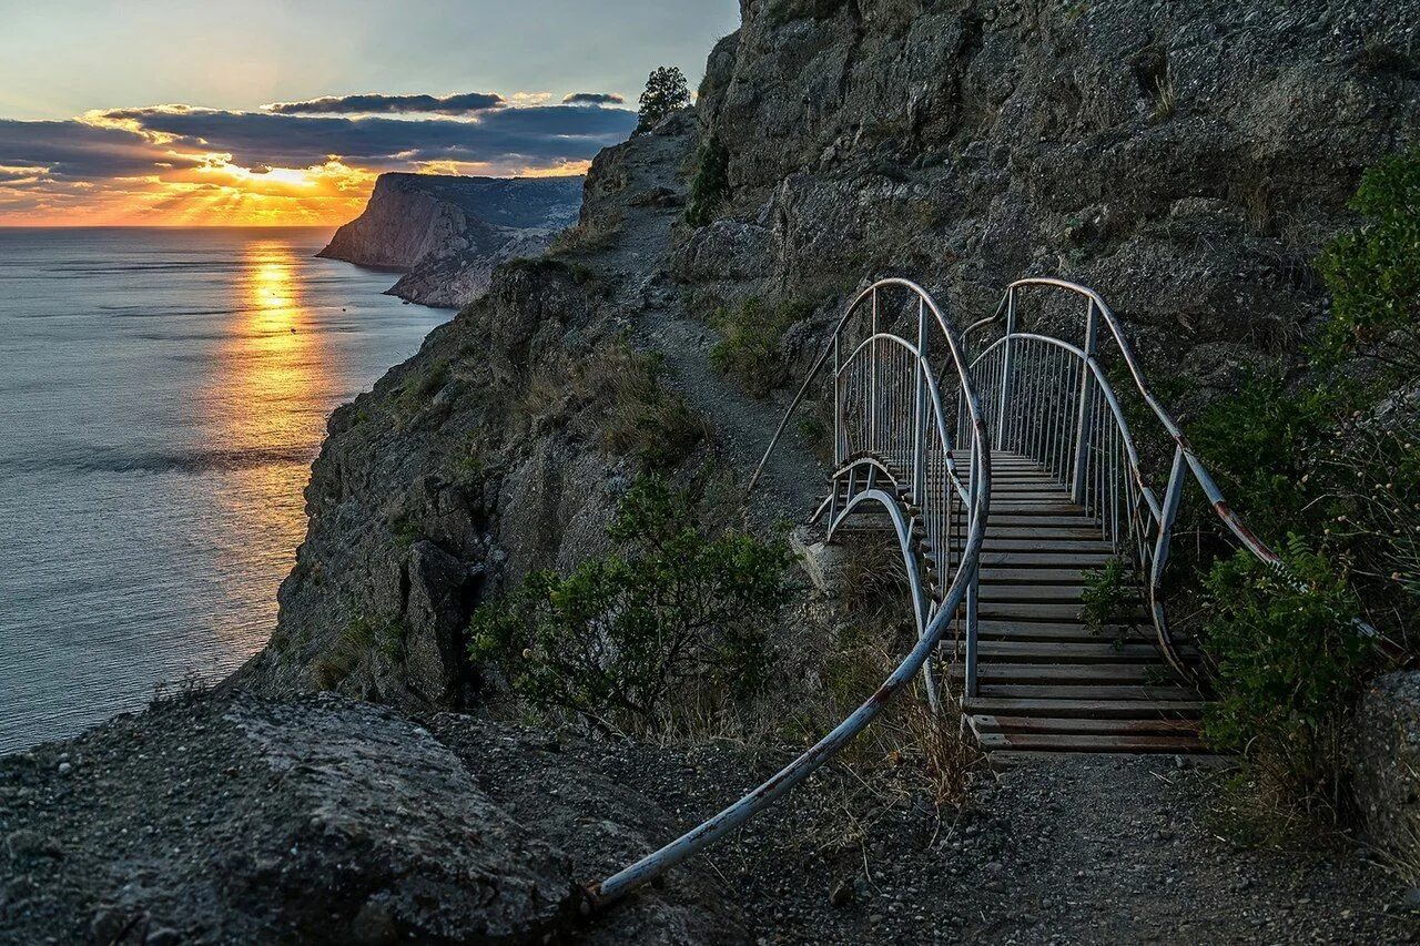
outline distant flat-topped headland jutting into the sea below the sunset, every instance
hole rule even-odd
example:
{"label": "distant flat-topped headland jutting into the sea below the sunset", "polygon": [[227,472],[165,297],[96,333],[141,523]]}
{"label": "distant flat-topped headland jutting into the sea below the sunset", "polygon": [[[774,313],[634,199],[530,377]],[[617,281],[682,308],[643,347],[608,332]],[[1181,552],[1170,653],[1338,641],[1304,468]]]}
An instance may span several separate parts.
{"label": "distant flat-topped headland jutting into the sea below the sunset", "polygon": [[405,271],[392,295],[457,308],[493,267],[538,256],[577,220],[581,178],[381,175],[365,212],[317,256]]}

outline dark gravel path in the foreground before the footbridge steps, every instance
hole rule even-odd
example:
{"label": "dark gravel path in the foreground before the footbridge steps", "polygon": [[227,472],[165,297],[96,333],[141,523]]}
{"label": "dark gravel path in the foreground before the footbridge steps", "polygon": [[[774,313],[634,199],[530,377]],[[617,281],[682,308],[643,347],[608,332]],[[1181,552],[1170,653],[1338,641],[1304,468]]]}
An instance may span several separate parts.
{"label": "dark gravel path in the foreground before the footbridge steps", "polygon": [[[655,800],[679,828],[787,759],[733,746],[572,744],[541,763],[507,754],[500,770],[477,756],[466,759],[480,784],[515,811],[528,804],[518,788],[528,766],[575,764]],[[1173,757],[1041,759],[983,773],[963,810],[939,812],[892,773],[865,783],[826,770],[667,888],[638,896],[673,898],[684,875],[709,874],[758,943],[1420,940],[1420,913],[1362,849],[1279,852],[1221,838],[1210,814],[1218,778]],[[562,791],[589,821],[605,817],[605,798]],[[605,851],[574,858],[588,878],[619,866]]]}

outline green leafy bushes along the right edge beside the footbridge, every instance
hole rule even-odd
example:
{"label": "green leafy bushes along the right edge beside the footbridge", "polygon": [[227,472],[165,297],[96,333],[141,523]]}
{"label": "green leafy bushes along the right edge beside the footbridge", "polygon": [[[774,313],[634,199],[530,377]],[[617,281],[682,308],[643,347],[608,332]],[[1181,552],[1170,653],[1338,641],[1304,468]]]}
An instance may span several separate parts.
{"label": "green leafy bushes along the right edge beside the footbridge", "polygon": [[1288,535],[1292,572],[1238,553],[1204,575],[1207,733],[1285,808],[1332,817],[1346,805],[1345,726],[1386,665],[1353,619],[1420,651],[1420,151],[1367,170],[1353,207],[1362,224],[1318,260],[1332,314],[1314,374],[1254,374],[1193,426],[1234,506]]}

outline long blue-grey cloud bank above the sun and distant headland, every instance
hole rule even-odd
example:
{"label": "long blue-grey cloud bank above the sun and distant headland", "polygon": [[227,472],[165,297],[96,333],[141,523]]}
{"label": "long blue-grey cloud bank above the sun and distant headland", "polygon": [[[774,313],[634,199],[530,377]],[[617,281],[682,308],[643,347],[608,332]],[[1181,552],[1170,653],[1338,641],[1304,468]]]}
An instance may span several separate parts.
{"label": "long blue-grey cloud bank above the sun and distant headland", "polygon": [[574,105],[500,108],[477,121],[325,118],[170,107],[115,109],[104,116],[170,135],[170,146],[179,151],[230,153],[246,168],[307,168],[324,163],[331,155],[369,168],[410,168],[430,161],[544,165],[591,158],[623,141],[636,125],[636,115],[626,109]]}

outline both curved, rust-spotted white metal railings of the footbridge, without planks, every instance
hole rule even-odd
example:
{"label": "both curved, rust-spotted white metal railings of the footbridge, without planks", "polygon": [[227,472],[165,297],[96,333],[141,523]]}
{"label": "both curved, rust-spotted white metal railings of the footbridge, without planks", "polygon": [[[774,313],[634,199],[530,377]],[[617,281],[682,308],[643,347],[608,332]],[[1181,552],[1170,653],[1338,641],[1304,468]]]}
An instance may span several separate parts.
{"label": "both curved, rust-spotted white metal railings of the footbridge, without planks", "polygon": [[[1078,341],[1021,328],[1027,295],[1052,297],[1055,315]],[[1069,305],[1083,304],[1079,310]],[[995,331],[995,337],[988,337]],[[977,339],[968,358],[966,344]],[[1115,386],[1100,361],[1112,344],[1137,393],[1173,442],[1162,490],[1145,469]],[[1119,320],[1100,295],[1056,278],[1012,283],[995,314],[960,337],[936,301],[907,280],[880,280],[849,303],[832,337],[790,403],[750,487],[764,473],[790,419],[831,368],[834,469],[826,516],[832,538],[869,510],[886,516],[907,571],[917,642],[882,686],[852,714],[772,778],[713,818],[588,888],[592,905],[609,903],[724,837],[834,757],[913,676],[923,675],[933,710],[940,686],[932,656],[949,626],[958,629],[963,692],[977,693],[977,571],[991,493],[991,449],[1030,457],[1085,507],[1102,537],[1127,555],[1147,589],[1163,656],[1186,676],[1164,614],[1163,575],[1186,482],[1244,548],[1289,575],[1281,557],[1228,507],[1217,483],[1150,389]],[[978,396],[980,392],[980,396]],[[826,395],[825,395],[826,396]],[[966,469],[963,469],[963,462]],[[880,518],[879,518],[880,523]],[[950,581],[944,582],[944,577]],[[1358,621],[1375,635],[1375,629]]]}

